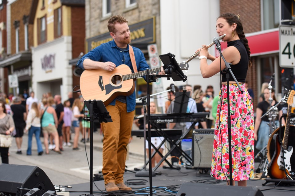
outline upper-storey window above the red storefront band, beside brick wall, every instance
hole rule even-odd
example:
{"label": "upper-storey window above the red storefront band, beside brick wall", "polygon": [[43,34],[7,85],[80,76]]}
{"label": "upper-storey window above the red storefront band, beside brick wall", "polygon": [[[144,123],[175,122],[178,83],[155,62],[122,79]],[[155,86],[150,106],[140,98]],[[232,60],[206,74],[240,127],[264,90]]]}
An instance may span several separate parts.
{"label": "upper-storey window above the red storefront band, beside brick wall", "polygon": [[262,29],[277,28],[280,25],[280,0],[262,0]]}

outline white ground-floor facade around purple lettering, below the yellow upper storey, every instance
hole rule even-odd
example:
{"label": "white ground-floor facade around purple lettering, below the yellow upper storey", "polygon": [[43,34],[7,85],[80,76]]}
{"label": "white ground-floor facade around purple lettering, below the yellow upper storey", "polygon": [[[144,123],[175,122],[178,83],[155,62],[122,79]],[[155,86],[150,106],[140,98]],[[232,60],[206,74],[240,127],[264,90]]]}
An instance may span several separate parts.
{"label": "white ground-floor facade around purple lettering, below the yellow upper storey", "polygon": [[[62,101],[68,99],[67,93],[72,91],[73,85],[72,66],[69,66],[69,60],[72,59],[71,40],[71,36],[64,36],[32,48],[32,87],[38,99],[49,91],[52,91],[53,96],[57,91],[61,92]],[[55,68],[46,72],[42,69],[41,59],[50,54],[55,54]],[[58,85],[53,89],[50,83]]]}

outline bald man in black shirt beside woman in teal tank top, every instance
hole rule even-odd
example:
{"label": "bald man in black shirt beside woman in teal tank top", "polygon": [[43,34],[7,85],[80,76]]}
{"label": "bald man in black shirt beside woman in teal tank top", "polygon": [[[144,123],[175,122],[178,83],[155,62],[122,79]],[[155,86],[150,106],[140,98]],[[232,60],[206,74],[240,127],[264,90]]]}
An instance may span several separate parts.
{"label": "bald man in black shirt beside woman in teal tank top", "polygon": [[63,147],[62,147],[62,141],[63,141],[63,136],[62,136],[62,126],[64,124],[64,106],[61,103],[61,95],[55,95],[54,96],[54,103],[56,104],[55,106],[55,112],[57,115],[57,133],[59,136],[59,149],[61,151],[63,151]]}

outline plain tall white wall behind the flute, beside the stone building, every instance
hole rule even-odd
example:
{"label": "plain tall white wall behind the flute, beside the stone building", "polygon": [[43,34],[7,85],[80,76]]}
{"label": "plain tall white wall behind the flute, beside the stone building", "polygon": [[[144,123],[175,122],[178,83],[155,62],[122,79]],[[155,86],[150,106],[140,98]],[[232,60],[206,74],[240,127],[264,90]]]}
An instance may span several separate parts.
{"label": "plain tall white wall behind the flute, beside the stone building", "polygon": [[[160,0],[161,12],[161,48],[159,54],[168,52],[175,55],[178,62],[186,61],[202,44],[210,44],[216,33],[216,19],[219,13],[218,0]],[[215,47],[209,49],[214,55]],[[208,61],[210,64],[210,61]],[[163,88],[171,83],[177,86],[190,84],[201,85],[205,90],[207,85],[213,85],[215,96],[219,92],[219,74],[204,79],[199,69],[199,58],[189,62],[189,69],[184,71],[187,81],[174,82],[162,79]]]}

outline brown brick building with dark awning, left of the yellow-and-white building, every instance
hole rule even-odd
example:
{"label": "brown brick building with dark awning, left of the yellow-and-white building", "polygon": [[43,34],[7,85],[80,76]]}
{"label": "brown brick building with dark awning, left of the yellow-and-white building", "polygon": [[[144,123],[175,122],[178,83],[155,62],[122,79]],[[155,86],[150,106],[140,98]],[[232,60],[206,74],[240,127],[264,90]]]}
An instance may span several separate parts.
{"label": "brown brick building with dark awning, left of the yellow-and-white building", "polygon": [[31,3],[32,0],[17,0],[7,5],[7,48],[2,49],[2,54],[6,55],[3,55],[0,66],[6,67],[8,74],[18,77],[18,87],[5,83],[4,92],[14,95],[22,94],[31,86],[33,26],[28,22]]}

